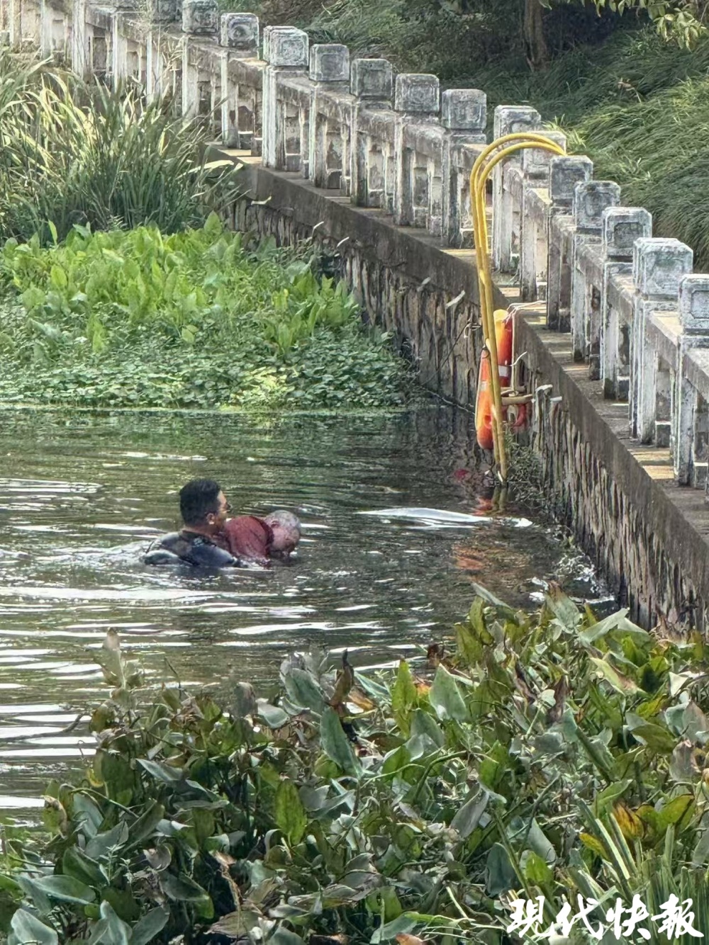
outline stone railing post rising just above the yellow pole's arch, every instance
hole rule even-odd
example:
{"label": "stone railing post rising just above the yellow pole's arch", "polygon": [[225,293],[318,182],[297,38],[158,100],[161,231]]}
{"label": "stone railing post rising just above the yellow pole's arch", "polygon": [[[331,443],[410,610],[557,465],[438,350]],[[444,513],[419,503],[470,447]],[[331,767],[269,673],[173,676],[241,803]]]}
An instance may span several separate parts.
{"label": "stone railing post rising just above the yellow pole's arch", "polygon": [[[535,109],[498,105],[494,110],[493,140],[513,131],[536,131],[541,126],[542,116]],[[510,163],[521,166],[521,155],[518,153],[493,168],[493,269],[500,272],[510,272],[516,268],[512,256],[519,252],[519,248],[513,245],[512,234],[520,232],[518,221],[522,215],[522,207],[513,206],[504,187],[504,169],[505,165],[510,166]]]}

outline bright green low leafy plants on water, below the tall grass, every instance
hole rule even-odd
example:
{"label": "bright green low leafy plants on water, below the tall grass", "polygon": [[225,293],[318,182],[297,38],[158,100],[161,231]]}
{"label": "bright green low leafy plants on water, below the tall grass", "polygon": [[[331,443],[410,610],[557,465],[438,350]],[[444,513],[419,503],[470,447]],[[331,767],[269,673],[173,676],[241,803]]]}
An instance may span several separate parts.
{"label": "bright green low leafy plants on water, below the tall grass", "polygon": [[[51,225],[50,225],[50,229]],[[52,229],[56,237],[56,231]],[[389,335],[363,326],[312,248],[199,230],[10,239],[0,402],[80,407],[377,409],[414,395]]]}

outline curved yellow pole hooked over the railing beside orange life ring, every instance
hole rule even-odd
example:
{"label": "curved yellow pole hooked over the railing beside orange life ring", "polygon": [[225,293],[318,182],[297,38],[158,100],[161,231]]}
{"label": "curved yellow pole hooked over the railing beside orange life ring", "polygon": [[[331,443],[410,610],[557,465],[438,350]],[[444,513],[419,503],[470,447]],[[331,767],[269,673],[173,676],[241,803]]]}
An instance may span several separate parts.
{"label": "curved yellow pole hooked over the railing beside orange life ring", "polygon": [[[504,146],[504,147],[503,147]],[[488,249],[488,225],[485,214],[485,184],[493,168],[514,154],[529,147],[538,147],[554,154],[564,154],[562,146],[533,131],[518,131],[504,135],[488,145],[477,157],[470,174],[470,198],[473,211],[473,229],[476,242],[477,281],[480,298],[480,314],[485,345],[490,352],[491,386],[493,388],[493,454],[499,466],[500,478],[507,482],[507,455],[502,427],[502,391],[497,361],[497,339],[493,316],[493,277],[490,269]],[[501,148],[500,150],[497,150]],[[493,154],[497,151],[496,154]],[[491,157],[492,155],[492,157]],[[488,161],[488,158],[490,160]],[[486,163],[487,162],[487,163]]]}

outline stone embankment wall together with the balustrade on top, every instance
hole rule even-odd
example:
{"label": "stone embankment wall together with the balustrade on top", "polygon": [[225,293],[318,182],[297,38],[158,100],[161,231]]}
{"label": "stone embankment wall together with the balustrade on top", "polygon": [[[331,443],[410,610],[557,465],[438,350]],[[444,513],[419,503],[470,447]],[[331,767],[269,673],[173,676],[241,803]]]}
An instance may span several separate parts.
{"label": "stone embankment wall together with the balustrade on top", "polygon": [[[238,222],[284,243],[318,225],[424,382],[474,405],[469,176],[487,141],[483,91],[441,91],[292,26],[262,31],[251,13],[219,16],[216,0],[0,0],[0,37],[174,94],[248,165]],[[532,108],[493,119],[495,137],[545,131],[565,147]],[[533,433],[562,517],[636,616],[703,626],[709,275],[693,273],[688,247],[653,238],[648,212],[623,206],[586,157],[531,148],[494,168],[491,192],[496,302],[517,306],[528,376],[552,388]]]}

